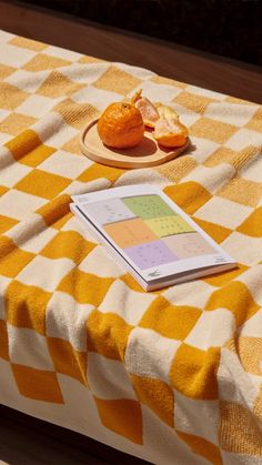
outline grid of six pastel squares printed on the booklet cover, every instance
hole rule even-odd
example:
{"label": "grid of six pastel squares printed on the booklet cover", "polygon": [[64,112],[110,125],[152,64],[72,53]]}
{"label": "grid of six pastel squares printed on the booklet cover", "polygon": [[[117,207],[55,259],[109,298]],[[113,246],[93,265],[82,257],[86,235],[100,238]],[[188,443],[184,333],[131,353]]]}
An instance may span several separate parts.
{"label": "grid of six pastel squares printed on the booklet cover", "polygon": [[140,270],[215,252],[159,195],[109,199],[84,210]]}

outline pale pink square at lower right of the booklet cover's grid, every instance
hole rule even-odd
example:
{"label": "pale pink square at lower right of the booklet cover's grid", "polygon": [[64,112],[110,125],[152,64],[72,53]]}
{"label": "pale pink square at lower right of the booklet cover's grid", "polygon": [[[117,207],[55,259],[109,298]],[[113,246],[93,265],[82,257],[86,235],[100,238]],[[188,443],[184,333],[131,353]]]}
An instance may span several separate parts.
{"label": "pale pink square at lower right of the booklet cover's grid", "polygon": [[169,235],[162,241],[179,259],[214,254],[216,251],[198,232]]}

